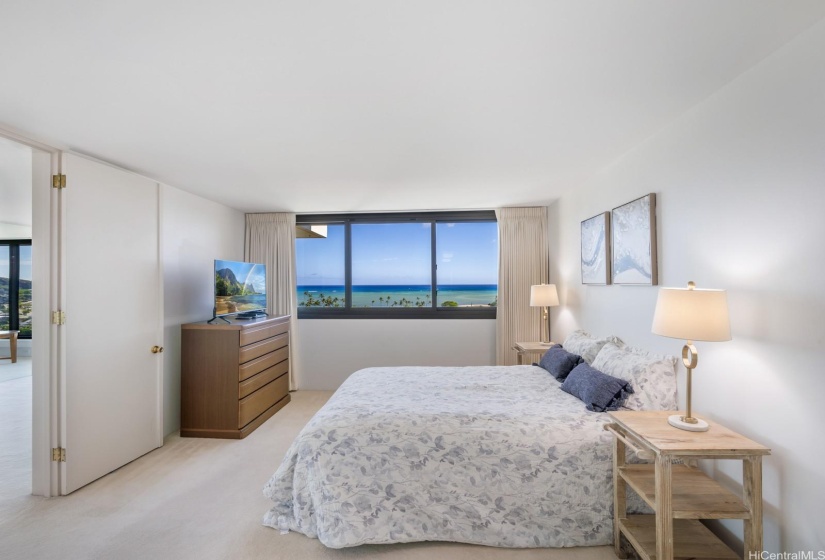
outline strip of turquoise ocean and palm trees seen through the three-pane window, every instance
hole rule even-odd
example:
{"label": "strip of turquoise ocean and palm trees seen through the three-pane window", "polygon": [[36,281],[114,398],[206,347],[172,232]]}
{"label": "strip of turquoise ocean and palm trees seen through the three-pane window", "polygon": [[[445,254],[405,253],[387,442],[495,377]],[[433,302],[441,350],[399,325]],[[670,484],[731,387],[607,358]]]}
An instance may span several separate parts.
{"label": "strip of turquoise ocean and palm trees seen through the three-pane window", "polygon": [[[344,286],[298,286],[302,307],[344,307]],[[495,305],[496,284],[442,284],[438,286],[439,307]],[[360,285],[352,287],[353,307],[430,307],[429,285]]]}

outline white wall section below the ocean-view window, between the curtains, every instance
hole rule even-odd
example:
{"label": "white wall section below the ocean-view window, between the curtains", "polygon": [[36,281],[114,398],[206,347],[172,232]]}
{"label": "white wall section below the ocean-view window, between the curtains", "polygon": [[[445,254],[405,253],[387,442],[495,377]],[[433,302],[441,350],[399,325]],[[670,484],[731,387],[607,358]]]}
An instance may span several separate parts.
{"label": "white wall section below the ocean-view window, between the curtains", "polygon": [[493,365],[493,319],[300,319],[299,389],[334,390],[373,366]]}

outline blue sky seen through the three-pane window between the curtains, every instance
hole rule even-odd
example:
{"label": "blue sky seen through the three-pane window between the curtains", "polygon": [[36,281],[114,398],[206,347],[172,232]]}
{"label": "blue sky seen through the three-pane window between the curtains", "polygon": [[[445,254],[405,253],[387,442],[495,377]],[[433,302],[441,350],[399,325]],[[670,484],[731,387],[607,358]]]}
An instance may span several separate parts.
{"label": "blue sky seen through the three-pane window between the curtains", "polygon": [[[438,283],[496,284],[495,222],[436,225]],[[353,224],[354,285],[430,284],[429,223]],[[326,239],[296,240],[298,285],[344,284],[344,226],[330,225]]]}

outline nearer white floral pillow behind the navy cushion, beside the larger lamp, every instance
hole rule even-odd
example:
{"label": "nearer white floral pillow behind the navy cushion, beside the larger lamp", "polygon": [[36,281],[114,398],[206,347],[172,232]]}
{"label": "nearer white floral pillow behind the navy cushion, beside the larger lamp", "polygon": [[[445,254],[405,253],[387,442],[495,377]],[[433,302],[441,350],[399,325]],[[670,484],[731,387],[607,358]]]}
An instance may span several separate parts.
{"label": "nearer white floral pillow behind the navy cushion, beside the larger lamp", "polygon": [[625,408],[676,410],[676,358],[673,356],[608,343],[599,351],[593,367],[630,383],[633,395],[625,402]]}

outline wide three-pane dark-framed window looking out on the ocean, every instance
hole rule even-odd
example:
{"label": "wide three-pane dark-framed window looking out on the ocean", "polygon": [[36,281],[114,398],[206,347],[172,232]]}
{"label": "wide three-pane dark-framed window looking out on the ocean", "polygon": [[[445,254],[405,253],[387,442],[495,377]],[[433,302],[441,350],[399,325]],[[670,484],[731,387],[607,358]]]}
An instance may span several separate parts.
{"label": "wide three-pane dark-framed window looking out on the ocean", "polygon": [[493,212],[298,216],[298,317],[494,318]]}

